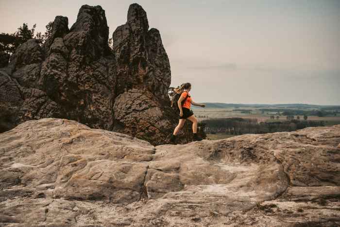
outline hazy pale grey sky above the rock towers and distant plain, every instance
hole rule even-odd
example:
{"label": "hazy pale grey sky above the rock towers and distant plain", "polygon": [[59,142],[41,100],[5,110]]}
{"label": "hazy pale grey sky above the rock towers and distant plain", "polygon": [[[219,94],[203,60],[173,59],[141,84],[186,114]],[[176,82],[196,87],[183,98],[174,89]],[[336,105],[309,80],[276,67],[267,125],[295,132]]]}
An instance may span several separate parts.
{"label": "hazy pale grey sky above the rock towers and distant plain", "polygon": [[110,37],[131,3],[160,31],[171,86],[196,102],[340,105],[340,0],[0,0],[0,32],[44,32],[83,4],[101,5]]}

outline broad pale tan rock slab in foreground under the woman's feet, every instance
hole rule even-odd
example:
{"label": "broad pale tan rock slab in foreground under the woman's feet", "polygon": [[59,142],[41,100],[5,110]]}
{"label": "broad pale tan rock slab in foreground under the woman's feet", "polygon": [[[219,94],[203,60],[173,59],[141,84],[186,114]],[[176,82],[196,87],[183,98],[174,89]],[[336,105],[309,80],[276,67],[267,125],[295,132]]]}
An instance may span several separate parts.
{"label": "broad pale tan rock slab in foreground under the woman's feet", "polygon": [[153,146],[50,118],[0,155],[2,225],[340,225],[340,125]]}

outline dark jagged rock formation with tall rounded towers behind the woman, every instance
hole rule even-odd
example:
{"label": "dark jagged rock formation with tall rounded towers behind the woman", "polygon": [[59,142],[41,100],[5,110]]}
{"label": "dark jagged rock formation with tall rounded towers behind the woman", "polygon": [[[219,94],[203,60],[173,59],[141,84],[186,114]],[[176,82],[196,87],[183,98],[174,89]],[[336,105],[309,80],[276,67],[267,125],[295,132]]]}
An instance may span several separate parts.
{"label": "dark jagged rock formation with tall rounded towers behind the woman", "polygon": [[83,5],[70,29],[68,18],[57,16],[42,46],[30,39],[17,48],[0,69],[0,107],[9,113],[0,116],[1,132],[55,117],[167,143],[178,116],[170,108],[170,63],[158,30],[149,30],[135,3],[113,33],[113,50],[108,36],[102,7]]}

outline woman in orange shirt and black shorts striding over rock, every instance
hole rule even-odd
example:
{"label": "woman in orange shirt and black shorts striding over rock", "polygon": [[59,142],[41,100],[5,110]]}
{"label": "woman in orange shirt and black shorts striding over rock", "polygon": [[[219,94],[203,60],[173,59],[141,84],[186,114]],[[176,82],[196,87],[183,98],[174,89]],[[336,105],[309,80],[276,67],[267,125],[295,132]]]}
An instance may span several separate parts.
{"label": "woman in orange shirt and black shorts striding over rock", "polygon": [[[194,141],[201,141],[202,138],[197,136],[197,118],[195,117],[194,113],[190,109],[190,105],[197,105],[197,106],[202,106],[205,107],[204,104],[198,104],[195,103],[192,100],[192,97],[189,95],[189,91],[191,90],[191,84],[190,83],[185,83],[181,85],[179,88],[175,88],[174,91],[176,93],[181,93],[180,98],[178,99],[177,105],[180,109],[180,114],[179,114],[179,122],[178,125],[176,126],[175,130],[173,131],[173,134],[171,135],[170,141],[172,143],[175,143],[176,136],[181,128],[183,128],[184,123],[186,122],[186,119],[192,122],[192,132],[194,134],[193,140]],[[185,100],[184,104],[182,105],[182,101]]]}

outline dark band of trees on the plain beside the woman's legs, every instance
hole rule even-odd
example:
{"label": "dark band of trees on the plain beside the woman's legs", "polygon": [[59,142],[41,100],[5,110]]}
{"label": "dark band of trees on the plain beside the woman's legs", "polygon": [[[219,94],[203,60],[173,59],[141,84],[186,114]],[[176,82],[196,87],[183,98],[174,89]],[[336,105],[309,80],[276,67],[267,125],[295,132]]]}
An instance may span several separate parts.
{"label": "dark band of trees on the plain beside the woman's legs", "polygon": [[300,121],[290,119],[283,122],[260,122],[257,119],[224,118],[203,120],[205,133],[223,132],[231,135],[246,133],[290,132],[306,127],[324,126],[323,121]]}

